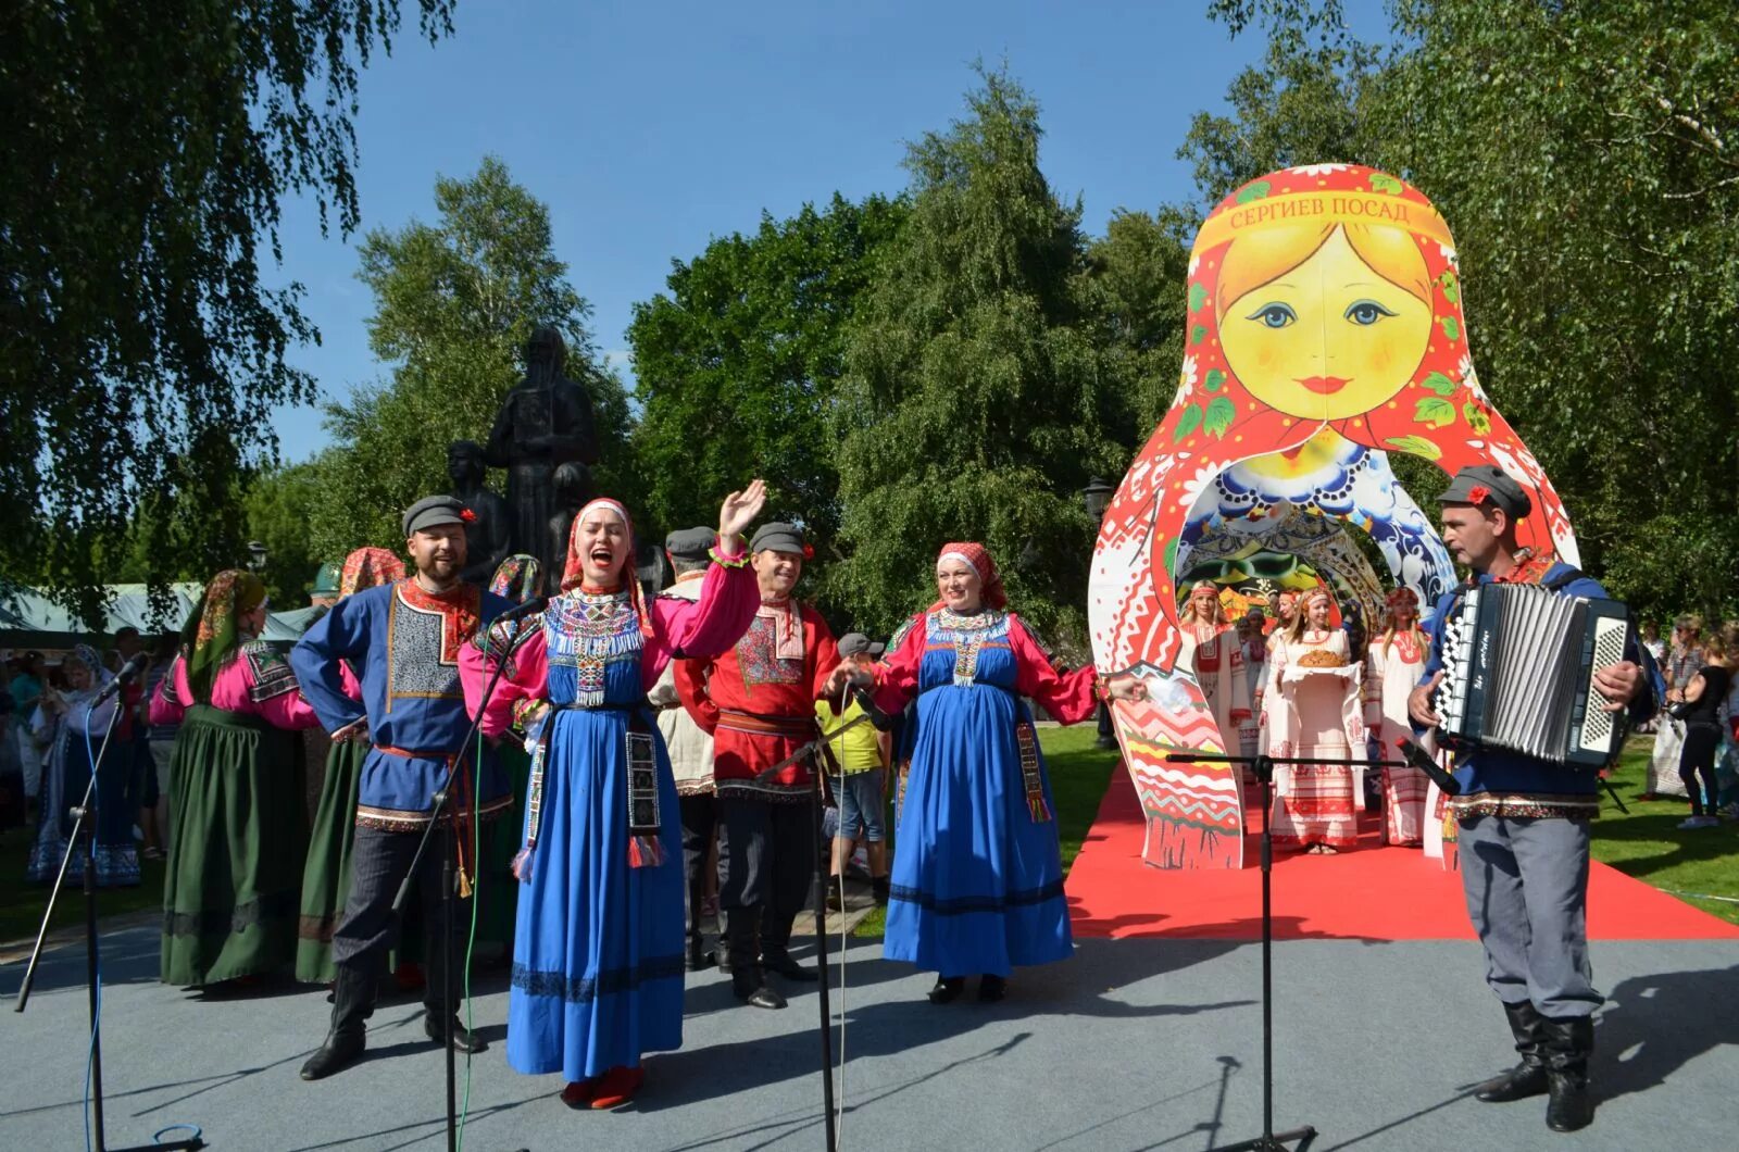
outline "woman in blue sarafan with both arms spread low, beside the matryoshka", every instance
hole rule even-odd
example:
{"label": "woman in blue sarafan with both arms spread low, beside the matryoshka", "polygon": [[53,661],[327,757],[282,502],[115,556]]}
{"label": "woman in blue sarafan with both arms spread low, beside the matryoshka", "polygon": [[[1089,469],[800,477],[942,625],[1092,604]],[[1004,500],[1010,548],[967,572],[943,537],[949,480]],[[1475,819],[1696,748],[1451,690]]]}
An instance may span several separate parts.
{"label": "woman in blue sarafan with both arms spread low, beside the matryoshka", "polygon": [[847,679],[873,682],[887,713],[918,700],[883,954],[939,973],[934,1004],[958,997],[972,973],[979,999],[1000,1001],[1016,964],[1073,952],[1050,783],[1023,698],[1078,724],[1099,700],[1146,691],[1092,666],[1059,673],[1021,618],[1003,611],[1002,579],[981,545],[944,545],[936,590],[937,602],[913,618],[892,656],[842,666],[830,691]]}

